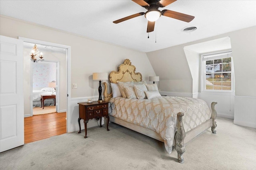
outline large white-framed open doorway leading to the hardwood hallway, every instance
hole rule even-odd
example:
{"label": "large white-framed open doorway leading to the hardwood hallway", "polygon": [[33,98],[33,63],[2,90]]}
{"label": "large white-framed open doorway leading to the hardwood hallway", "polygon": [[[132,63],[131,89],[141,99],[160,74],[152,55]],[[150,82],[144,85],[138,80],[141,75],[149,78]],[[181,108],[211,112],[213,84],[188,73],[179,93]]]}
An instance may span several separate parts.
{"label": "large white-framed open doorway leading to the hardwood hallway", "polygon": [[[34,105],[33,104],[33,90],[43,91],[42,89],[44,89],[44,92],[50,91],[50,93],[54,93],[56,95],[55,100],[52,99],[52,102],[54,101],[54,104],[56,105],[56,106],[54,106],[55,107],[54,111],[58,112],[58,113],[50,113],[50,114],[46,114],[46,115],[48,115],[50,121],[52,121],[52,119],[50,117],[51,115],[52,115],[52,118],[54,118],[54,119],[60,117],[60,115],[61,115],[61,117],[63,117],[63,115],[64,115],[64,129],[65,130],[63,131],[63,125],[62,125],[62,133],[66,133],[67,129],[68,129],[68,120],[69,120],[68,117],[70,117],[70,116],[68,116],[68,114],[70,112],[70,96],[68,95],[68,93],[70,93],[70,83],[68,83],[68,82],[70,82],[70,63],[69,62],[70,62],[71,48],[70,48],[70,46],[66,46],[66,45],[60,45],[60,44],[39,41],[39,40],[34,40],[34,39],[27,39],[27,38],[23,38],[23,37],[19,37],[19,39],[22,39],[24,41],[24,68],[28,67],[27,70],[24,69],[24,74],[28,75],[28,78],[27,78],[28,81],[26,81],[26,79],[24,79],[24,117],[25,117],[25,119],[31,118],[30,123],[32,123],[33,117],[40,117],[40,115],[33,116],[33,105]],[[28,44],[30,44],[30,47],[26,46]],[[30,60],[30,51],[32,49],[32,46],[34,46],[35,44],[38,46],[38,48],[40,47],[40,52],[43,53],[44,61],[42,61],[42,62],[39,61],[38,63],[36,63],[36,62],[34,63],[33,61]],[[27,47],[27,50],[26,50],[26,47]],[[52,76],[51,78],[46,78],[47,76],[43,75],[42,72],[40,73],[40,75],[38,77],[41,78],[41,80],[44,80],[44,83],[41,82],[42,84],[44,84],[43,88],[36,87],[36,84],[33,84],[33,72],[36,72],[35,70],[33,70],[33,65],[39,66],[40,64],[41,64],[41,68],[40,68],[41,70],[45,71],[47,64],[51,65],[51,66],[48,66],[47,69],[55,70],[55,71],[53,71],[54,72],[53,74],[55,74],[55,76]],[[55,66],[52,67],[52,65],[55,65]],[[38,68],[36,68],[36,69],[38,71]],[[55,83],[54,90],[52,90],[52,86],[49,86],[49,84],[53,83],[53,82]],[[27,87],[26,87],[26,85],[27,85]],[[28,92],[28,93],[26,94],[26,92]],[[25,100],[26,100],[26,102],[25,102]],[[50,101],[49,101],[50,104],[49,104],[49,102],[46,102],[46,101],[47,100],[44,100],[45,104],[43,104],[43,105],[41,104],[41,101],[40,101],[39,108],[41,110],[43,109],[43,107],[45,109],[45,107],[47,107],[47,105],[54,105]],[[27,106],[30,106],[30,107],[27,107]],[[34,107],[36,107],[36,106],[34,105]],[[44,119],[44,120],[41,120],[41,121],[36,120],[37,125],[35,123],[35,126],[31,125],[29,127],[29,128],[36,127],[35,131],[38,135],[42,134],[42,132],[38,133],[39,132],[38,128],[40,127],[40,124],[38,124],[38,122],[43,123],[43,122],[45,122],[46,118],[44,117],[42,119]],[[52,126],[52,127],[56,127],[56,129],[60,129],[56,123],[57,123],[57,121],[48,123],[47,125],[53,124],[54,126]],[[63,124],[63,121],[62,121],[62,124]],[[45,128],[42,128],[42,129],[45,129]],[[24,126],[24,130],[26,131],[26,126]],[[56,130],[54,130],[54,129],[50,129],[50,130],[45,129],[45,130],[48,131],[48,134],[45,134],[46,137],[60,135],[60,133],[56,133]],[[32,132],[33,130],[29,129],[29,131]],[[52,133],[52,131],[55,131],[55,133]],[[53,135],[50,133],[52,133]],[[25,139],[26,139],[26,133],[25,133]],[[38,139],[44,139],[44,138],[38,137]]]}

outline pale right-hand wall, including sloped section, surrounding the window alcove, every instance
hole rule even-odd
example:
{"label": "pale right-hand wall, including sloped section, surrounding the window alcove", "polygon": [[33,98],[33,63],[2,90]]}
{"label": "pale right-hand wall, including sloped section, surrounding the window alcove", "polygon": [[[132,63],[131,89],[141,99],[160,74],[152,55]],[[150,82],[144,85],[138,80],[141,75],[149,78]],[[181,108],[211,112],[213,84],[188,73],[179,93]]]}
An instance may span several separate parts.
{"label": "pale right-hand wall, including sloped section, surrounding the window alcove", "polygon": [[[177,80],[177,75],[184,76],[190,74],[192,77],[194,72],[193,71],[190,73],[186,55],[184,51],[182,51],[183,47],[223,37],[230,37],[233,52],[232,54],[234,61],[236,95],[234,99],[235,102],[227,102],[229,98],[232,100],[230,95],[225,95],[224,98],[222,98],[223,96],[219,95],[217,98],[214,98],[213,96],[216,95],[212,94],[208,96],[208,98],[217,100],[217,108],[220,106],[221,102],[224,102],[224,105],[221,104],[222,107],[219,108],[221,110],[217,109],[217,112],[222,113],[223,117],[232,118],[234,115],[234,123],[239,125],[247,125],[249,127],[256,127],[256,109],[251,107],[255,100],[254,98],[256,97],[256,26],[232,31],[206,39],[201,39],[198,41],[193,41],[182,45],[177,45],[174,47],[169,47],[158,51],[153,51],[146,54],[148,55],[148,59],[150,60],[150,63],[152,64],[156,74],[160,76],[159,85],[162,91],[165,91],[166,93],[180,92],[181,95],[182,93],[190,93],[192,96],[193,79],[189,78],[189,76],[184,78],[186,79],[186,83],[183,82],[184,84],[182,84],[182,81],[179,81],[180,83],[176,84],[172,83],[173,81]],[[175,63],[176,65],[171,63]],[[168,79],[168,81],[162,81],[161,77]],[[202,94],[198,97],[206,98],[205,95],[206,94]],[[239,105],[238,102],[242,102],[242,105]],[[255,103],[253,105],[255,105]],[[234,110],[233,113],[232,110]],[[242,110],[246,110],[246,113]]]}

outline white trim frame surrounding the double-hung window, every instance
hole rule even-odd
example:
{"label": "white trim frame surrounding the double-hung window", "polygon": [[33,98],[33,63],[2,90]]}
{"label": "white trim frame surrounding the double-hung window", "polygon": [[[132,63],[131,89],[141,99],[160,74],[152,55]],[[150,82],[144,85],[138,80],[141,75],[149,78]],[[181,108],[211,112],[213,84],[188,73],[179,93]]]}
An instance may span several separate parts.
{"label": "white trim frame surrounding the double-hung window", "polygon": [[[231,90],[208,90],[205,88],[206,86],[206,81],[205,81],[205,76],[204,76],[204,73],[206,72],[206,68],[204,67],[204,61],[203,61],[203,57],[206,56],[206,55],[214,55],[214,54],[219,54],[219,53],[229,53],[231,52],[232,54],[232,50],[231,49],[228,49],[228,50],[223,50],[223,51],[214,51],[214,52],[210,52],[210,53],[202,53],[200,54],[201,55],[201,60],[200,60],[200,70],[201,70],[201,92],[234,92],[234,82],[235,82],[235,79],[234,79],[234,63],[233,63],[233,57],[231,56]],[[212,57],[209,57],[209,59],[212,58]],[[223,58],[223,57],[220,57],[220,58]],[[225,72],[225,73],[230,73],[230,72]]]}

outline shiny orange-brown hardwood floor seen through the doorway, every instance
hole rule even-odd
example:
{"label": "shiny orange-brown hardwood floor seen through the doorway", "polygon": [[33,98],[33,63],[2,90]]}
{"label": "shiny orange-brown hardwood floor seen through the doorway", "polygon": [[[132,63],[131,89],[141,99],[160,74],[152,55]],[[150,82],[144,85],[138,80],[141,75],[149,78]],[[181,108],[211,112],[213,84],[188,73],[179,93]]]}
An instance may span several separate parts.
{"label": "shiny orange-brown hardwood floor seen through the doorway", "polygon": [[24,143],[66,133],[66,112],[24,117]]}

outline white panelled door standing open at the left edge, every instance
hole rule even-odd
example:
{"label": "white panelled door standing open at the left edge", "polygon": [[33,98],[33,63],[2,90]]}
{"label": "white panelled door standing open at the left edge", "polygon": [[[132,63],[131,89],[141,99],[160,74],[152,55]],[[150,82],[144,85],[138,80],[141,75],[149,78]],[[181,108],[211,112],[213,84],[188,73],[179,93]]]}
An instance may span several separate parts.
{"label": "white panelled door standing open at the left edge", "polygon": [[2,35],[0,41],[0,152],[3,152],[24,145],[23,41]]}

